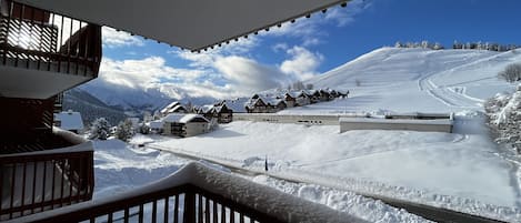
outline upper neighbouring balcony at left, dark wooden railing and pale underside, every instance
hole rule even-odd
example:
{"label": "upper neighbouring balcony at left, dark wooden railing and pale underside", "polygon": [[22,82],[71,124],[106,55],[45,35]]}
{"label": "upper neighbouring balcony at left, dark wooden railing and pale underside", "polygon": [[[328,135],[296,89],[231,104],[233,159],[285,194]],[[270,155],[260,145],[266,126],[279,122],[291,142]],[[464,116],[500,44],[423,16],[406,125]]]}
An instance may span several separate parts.
{"label": "upper neighbouring balcony at left, dark wooden railing and pale underside", "polygon": [[0,0],[0,97],[49,99],[98,77],[101,27]]}

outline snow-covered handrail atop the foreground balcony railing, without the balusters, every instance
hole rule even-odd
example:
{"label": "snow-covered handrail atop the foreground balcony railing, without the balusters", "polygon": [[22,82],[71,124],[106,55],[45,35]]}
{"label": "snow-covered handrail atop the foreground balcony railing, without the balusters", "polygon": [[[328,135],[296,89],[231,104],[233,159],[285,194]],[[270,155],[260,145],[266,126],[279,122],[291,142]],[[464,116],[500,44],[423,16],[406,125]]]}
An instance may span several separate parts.
{"label": "snow-covered handrail atop the foreground balcony railing, without the balusters", "polygon": [[[325,205],[305,201],[275,189],[253,183],[206,166],[189,163],[172,175],[152,184],[111,197],[24,216],[21,222],[80,222],[103,216],[180,193],[198,193],[229,202],[252,219],[267,222],[364,222]],[[14,222],[12,221],[12,222]]]}

